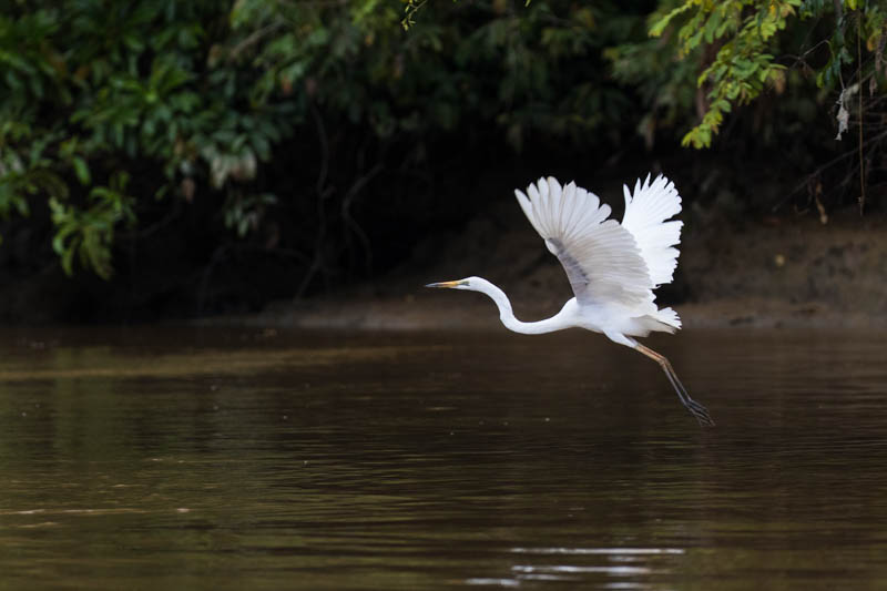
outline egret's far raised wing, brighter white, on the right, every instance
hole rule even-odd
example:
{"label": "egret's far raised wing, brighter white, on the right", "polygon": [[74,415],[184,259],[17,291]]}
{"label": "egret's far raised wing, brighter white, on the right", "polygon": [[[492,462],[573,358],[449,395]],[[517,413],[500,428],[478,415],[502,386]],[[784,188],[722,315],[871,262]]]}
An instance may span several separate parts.
{"label": "egret's far raised wing, brighter white, on the right", "polygon": [[625,215],[622,227],[631,232],[641,256],[650,271],[654,286],[671,283],[677,266],[674,246],[681,242],[683,222],[670,217],[681,213],[681,195],[674,184],[662,175],[650,182],[650,175],[634,184],[633,194],[622,185],[625,194]]}

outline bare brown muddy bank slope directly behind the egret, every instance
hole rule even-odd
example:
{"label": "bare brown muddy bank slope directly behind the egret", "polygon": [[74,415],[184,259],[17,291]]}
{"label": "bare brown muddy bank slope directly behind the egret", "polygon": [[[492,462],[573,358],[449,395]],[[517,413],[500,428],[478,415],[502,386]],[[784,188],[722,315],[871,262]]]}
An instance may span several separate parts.
{"label": "bare brown muddy bank slope directly behind the egret", "polygon": [[[657,302],[674,306],[686,328],[887,326],[884,215],[848,212],[826,224],[795,214],[733,223],[691,211],[684,220],[679,272]],[[518,208],[503,202],[462,232],[428,240],[387,277],[333,297],[278,302],[242,320],[305,328],[501,328],[486,296],[422,287],[470,275],[497,283],[516,315],[528,320],[557,313],[572,295],[558,261]]]}

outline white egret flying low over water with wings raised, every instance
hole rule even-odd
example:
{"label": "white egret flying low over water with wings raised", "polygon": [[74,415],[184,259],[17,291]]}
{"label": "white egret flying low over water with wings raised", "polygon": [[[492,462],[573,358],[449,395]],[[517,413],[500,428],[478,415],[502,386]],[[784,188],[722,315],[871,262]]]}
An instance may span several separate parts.
{"label": "white egret flying low over water with wings raised", "polygon": [[656,361],[669,377],[681,403],[701,425],[714,425],[704,406],[686,391],[664,356],[641,345],[634,337],[651,332],[672,333],[681,319],[672,308],[659,308],[653,289],[671,283],[677,266],[675,248],[681,242],[683,222],[670,220],[681,212],[681,196],[664,176],[641,183],[634,191],[623,185],[625,215],[622,223],[608,220],[610,206],[594,193],[553,177],[540,179],[514,190],[518,203],[530,223],[546,241],[567,272],[575,297],[544,320],[524,323],[514,317],[511,302],[496,285],[482,277],[429,284],[487,294],[499,308],[506,328],[526,335],[539,335],[580,327],[603,333],[610,340],[625,345]]}

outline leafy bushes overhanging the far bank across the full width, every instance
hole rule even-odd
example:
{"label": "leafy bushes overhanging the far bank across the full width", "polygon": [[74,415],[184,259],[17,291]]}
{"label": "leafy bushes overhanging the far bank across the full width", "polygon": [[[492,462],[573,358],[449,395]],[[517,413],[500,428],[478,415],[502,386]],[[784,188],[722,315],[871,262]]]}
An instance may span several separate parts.
{"label": "leafy bushes overhanging the far bank across the full width", "polygon": [[[491,152],[604,153],[635,131],[710,146],[753,101],[733,136],[809,163],[844,125],[883,125],[874,0],[7,4],[0,218],[47,212],[68,273],[110,276],[146,212],[191,207],[288,257],[304,291],[368,261],[386,215],[409,208],[419,222],[397,230],[414,233],[440,215],[427,171],[468,175]],[[836,130],[810,125],[835,101]],[[884,137],[860,140],[860,177]]]}

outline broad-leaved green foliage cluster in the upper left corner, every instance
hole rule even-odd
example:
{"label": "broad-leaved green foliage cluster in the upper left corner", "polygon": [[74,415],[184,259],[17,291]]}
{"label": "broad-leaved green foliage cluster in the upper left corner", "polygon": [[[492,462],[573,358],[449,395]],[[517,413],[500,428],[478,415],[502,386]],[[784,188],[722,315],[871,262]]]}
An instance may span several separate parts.
{"label": "broad-leaved green foliage cluster in the upper left corner", "polygon": [[94,179],[150,162],[162,174],[139,180],[142,197],[190,198],[180,187],[206,185],[242,194],[292,129],[286,109],[249,101],[255,75],[208,63],[227,40],[217,2],[13,7],[0,16],[0,216],[28,214],[32,196],[53,200],[53,245],[69,273],[77,251],[109,276],[113,224],[133,216],[113,197],[120,188]]}

